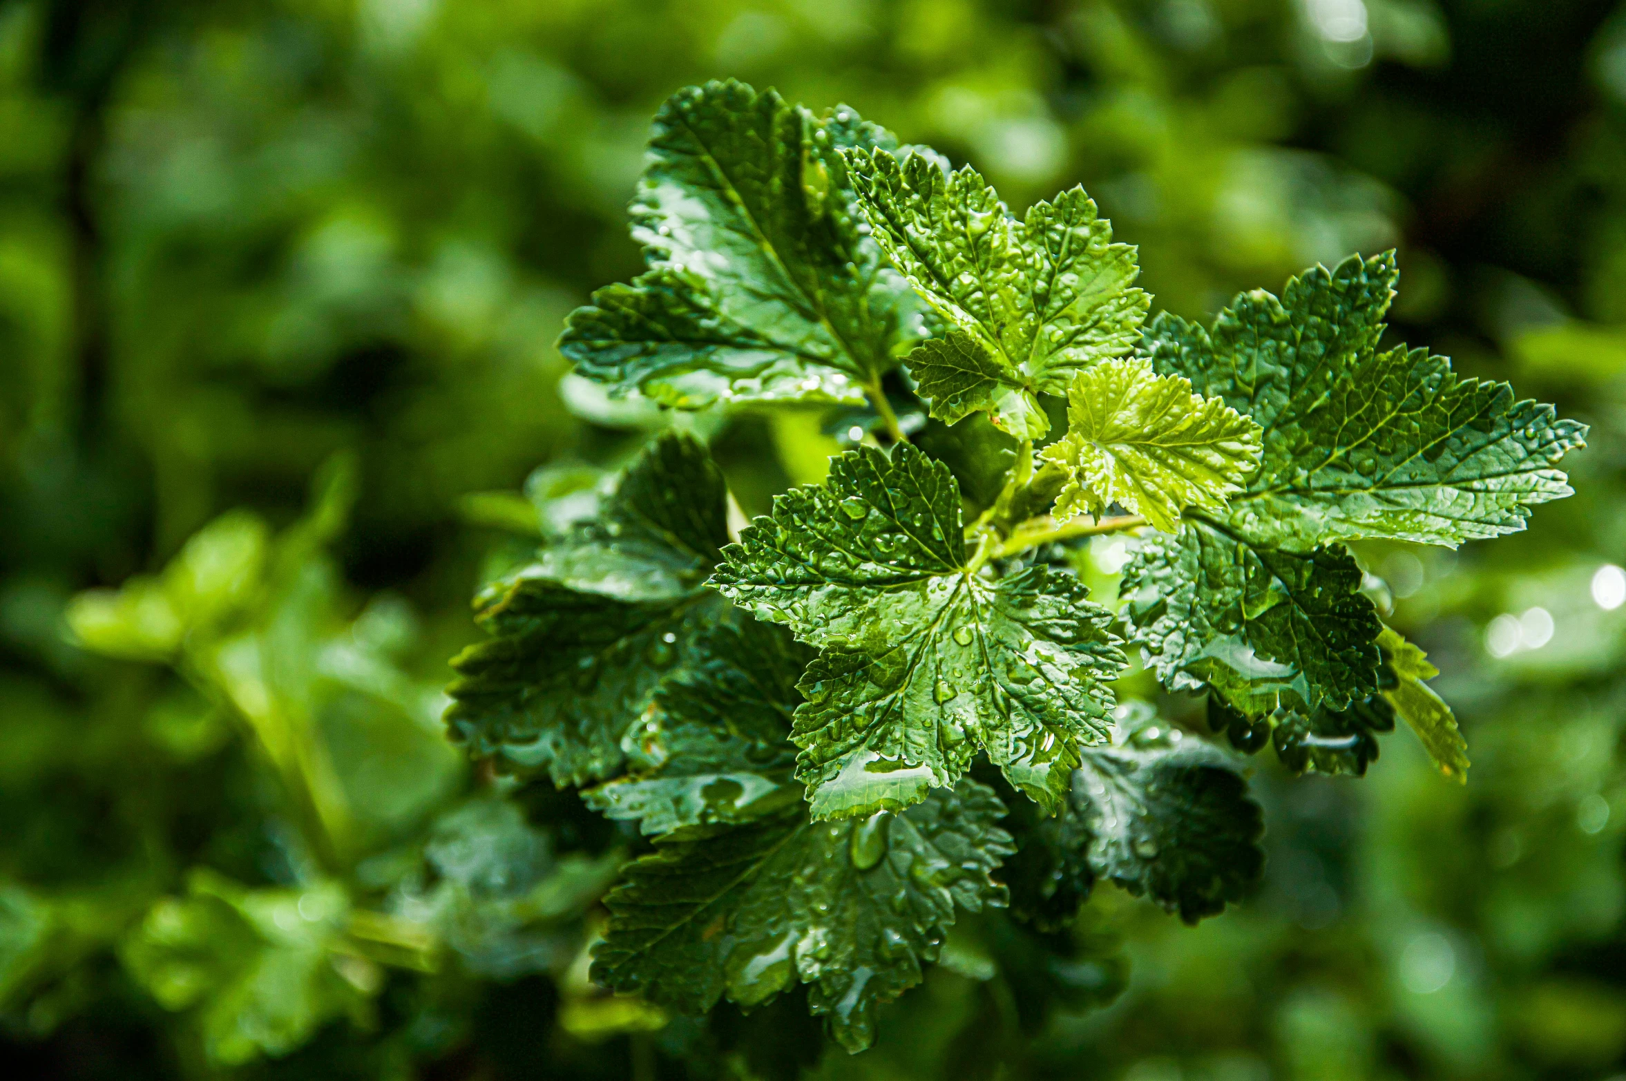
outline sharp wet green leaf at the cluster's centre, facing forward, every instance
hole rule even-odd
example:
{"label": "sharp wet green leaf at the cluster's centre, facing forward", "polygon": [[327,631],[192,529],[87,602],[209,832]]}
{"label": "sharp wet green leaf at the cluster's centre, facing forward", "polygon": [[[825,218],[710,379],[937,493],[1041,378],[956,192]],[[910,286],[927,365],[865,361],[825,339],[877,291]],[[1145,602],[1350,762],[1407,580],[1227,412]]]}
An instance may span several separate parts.
{"label": "sharp wet green leaf at the cluster's centre, facing forward", "polygon": [[1111,614],[1063,572],[972,571],[963,536],[948,468],[901,444],[834,458],[724,551],[712,584],[823,650],[795,717],[816,818],[919,801],[979,749],[1055,808],[1078,748],[1106,736]]}

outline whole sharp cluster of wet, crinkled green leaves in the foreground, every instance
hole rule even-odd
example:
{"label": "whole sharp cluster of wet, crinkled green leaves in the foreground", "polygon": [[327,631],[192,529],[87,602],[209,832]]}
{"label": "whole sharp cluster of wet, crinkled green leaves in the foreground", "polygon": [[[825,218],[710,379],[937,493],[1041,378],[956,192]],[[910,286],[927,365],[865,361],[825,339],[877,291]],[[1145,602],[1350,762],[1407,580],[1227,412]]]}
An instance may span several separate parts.
{"label": "whole sharp cluster of wet, crinkled green leaves in the foreground", "polygon": [[[1345,543],[1520,528],[1584,428],[1380,349],[1392,255],[1143,327],[1083,190],[1018,219],[850,109],[732,81],[662,109],[633,221],[650,270],[571,317],[582,376],[686,410],[867,402],[878,434],[733,543],[704,444],[663,434],[476,601],[454,736],[602,782],[587,803],[654,839],[606,897],[606,987],[701,1013],[800,982],[860,1050],[956,914],[1063,927],[1102,878],[1187,922],[1239,901],[1259,806],[1202,725],[1119,702],[1127,642],[1237,749],[1361,774],[1398,715],[1465,775]],[[1015,452],[933,458],[901,400]],[[956,467],[995,462],[971,504]],[[1067,559],[1109,532],[1120,611]]]}

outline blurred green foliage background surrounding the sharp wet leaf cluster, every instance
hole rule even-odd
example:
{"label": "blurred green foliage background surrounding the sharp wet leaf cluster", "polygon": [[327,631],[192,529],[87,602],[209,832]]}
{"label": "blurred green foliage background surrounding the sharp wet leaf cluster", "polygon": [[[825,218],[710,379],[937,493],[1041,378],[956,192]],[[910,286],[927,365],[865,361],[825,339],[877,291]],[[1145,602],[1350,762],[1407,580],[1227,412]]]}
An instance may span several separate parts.
{"label": "blurred green foliage background surrounding the sharp wet leaf cluster", "polygon": [[[301,914],[320,897],[408,910],[398,868],[485,784],[437,710],[446,658],[475,636],[472,590],[533,540],[501,493],[545,463],[613,465],[665,423],[561,384],[553,340],[590,289],[639,270],[623,211],[650,114],[730,75],[850,104],[977,166],[1018,211],[1085,184],[1180,314],[1398,247],[1393,340],[1590,423],[1566,463],[1579,494],[1527,533],[1361,549],[1390,619],[1446,671],[1468,785],[1406,732],[1364,780],[1291,782],[1267,751],[1250,902],[1197,930],[1093,904],[1127,943],[1115,1005],[1033,1006],[961,957],[859,1058],[820,1058],[816,1026],[789,1021],[784,1047],[717,1052],[597,996],[579,959],[590,884],[465,969],[345,961],[341,1005],[278,998],[306,1011],[275,1019],[283,1044],[210,1016],[218,996],[189,988],[236,962],[210,946],[197,972],[154,974],[132,935],[156,902],[207,868],[231,889],[304,889]],[[823,445],[793,418],[717,436],[748,512],[808,480]],[[211,522],[179,571],[75,608]],[[1122,553],[1094,558],[1112,571]],[[0,3],[13,1076],[1626,1076],[1615,564],[1613,2]],[[320,780],[320,844],[280,801],[267,732],[325,756],[298,766]],[[525,806],[551,831],[527,857],[538,881],[597,881],[613,839],[546,793]]]}

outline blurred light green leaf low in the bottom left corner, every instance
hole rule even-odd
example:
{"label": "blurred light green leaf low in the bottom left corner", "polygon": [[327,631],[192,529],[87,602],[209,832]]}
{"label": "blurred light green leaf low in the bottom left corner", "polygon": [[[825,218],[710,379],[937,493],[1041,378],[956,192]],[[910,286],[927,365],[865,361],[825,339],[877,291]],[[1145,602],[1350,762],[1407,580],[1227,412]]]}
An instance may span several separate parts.
{"label": "blurred light green leaf low in the bottom left corner", "polygon": [[213,1063],[241,1065],[285,1055],[366,1003],[335,966],[348,910],[332,883],[250,891],[200,870],[185,897],[153,905],[122,957],[161,1006],[195,1011]]}

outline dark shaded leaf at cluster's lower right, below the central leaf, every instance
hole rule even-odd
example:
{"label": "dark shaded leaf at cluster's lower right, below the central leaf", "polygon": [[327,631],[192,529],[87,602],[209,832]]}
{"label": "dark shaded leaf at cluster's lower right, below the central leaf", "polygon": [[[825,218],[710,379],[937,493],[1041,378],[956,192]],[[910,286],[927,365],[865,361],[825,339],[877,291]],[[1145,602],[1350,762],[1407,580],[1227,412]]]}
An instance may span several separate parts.
{"label": "dark shaded leaf at cluster's lower right, below the central leaf", "polygon": [[1011,907],[1039,927],[1072,920],[1098,876],[1195,923],[1263,870],[1263,818],[1229,759],[1151,709],[1120,712],[1112,743],[1085,749],[1062,813],[1013,827]]}

